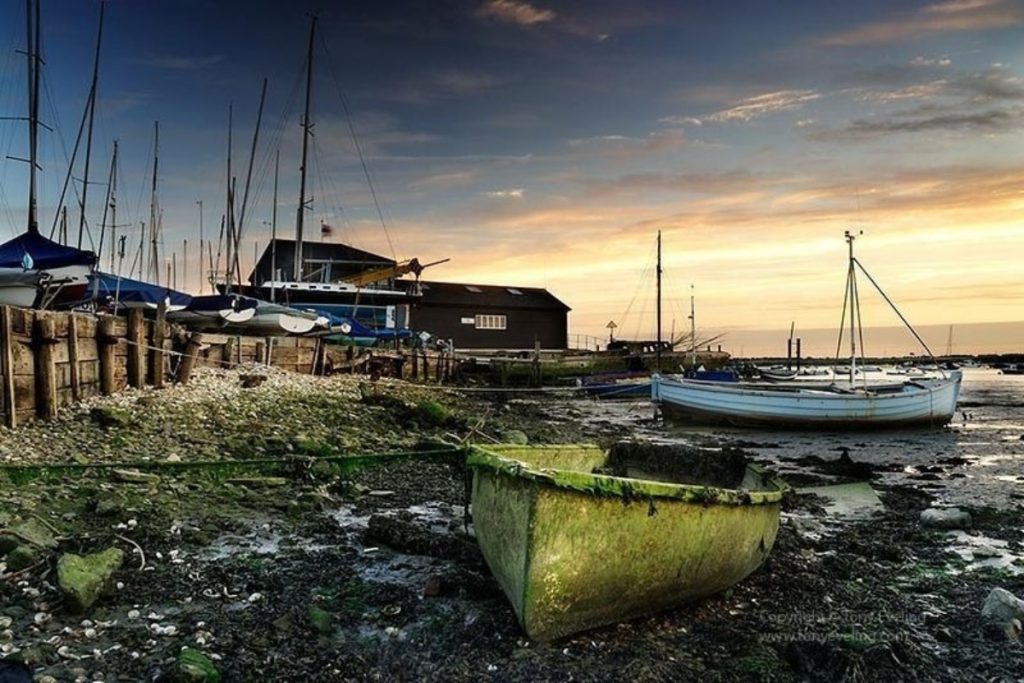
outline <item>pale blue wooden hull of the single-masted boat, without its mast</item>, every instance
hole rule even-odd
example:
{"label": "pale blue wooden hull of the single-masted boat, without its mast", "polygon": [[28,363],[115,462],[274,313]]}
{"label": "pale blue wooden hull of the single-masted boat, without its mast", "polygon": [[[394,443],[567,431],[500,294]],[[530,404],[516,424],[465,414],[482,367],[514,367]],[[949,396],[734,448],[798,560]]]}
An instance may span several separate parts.
{"label": "pale blue wooden hull of the single-masted boat, without its mast", "polygon": [[899,391],[768,389],[653,377],[651,400],[696,422],[801,429],[941,427],[952,419],[961,373],[907,383]]}

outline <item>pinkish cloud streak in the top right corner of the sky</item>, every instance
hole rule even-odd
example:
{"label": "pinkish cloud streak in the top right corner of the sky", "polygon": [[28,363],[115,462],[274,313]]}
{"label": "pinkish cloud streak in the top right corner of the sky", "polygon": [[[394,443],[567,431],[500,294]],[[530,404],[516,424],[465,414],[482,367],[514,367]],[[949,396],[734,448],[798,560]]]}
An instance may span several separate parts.
{"label": "pinkish cloud streak in the top right corner of the sky", "polygon": [[1024,7],[1016,0],[950,0],[827,36],[819,43],[834,47],[901,43],[928,34],[1004,29],[1021,24],[1024,24]]}

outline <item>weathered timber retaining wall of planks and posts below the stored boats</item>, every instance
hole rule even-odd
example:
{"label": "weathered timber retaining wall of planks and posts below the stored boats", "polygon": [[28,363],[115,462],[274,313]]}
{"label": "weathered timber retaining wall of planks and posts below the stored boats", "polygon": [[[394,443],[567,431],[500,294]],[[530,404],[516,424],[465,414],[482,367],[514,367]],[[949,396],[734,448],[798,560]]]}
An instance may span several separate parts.
{"label": "weathered timber retaining wall of planks and posts below the stored boats", "polygon": [[145,319],[138,310],[124,318],[0,306],[2,424],[50,418],[73,402],[128,386],[187,381],[195,367],[260,362],[310,374],[328,355],[314,338],[189,334],[159,313],[157,318]]}

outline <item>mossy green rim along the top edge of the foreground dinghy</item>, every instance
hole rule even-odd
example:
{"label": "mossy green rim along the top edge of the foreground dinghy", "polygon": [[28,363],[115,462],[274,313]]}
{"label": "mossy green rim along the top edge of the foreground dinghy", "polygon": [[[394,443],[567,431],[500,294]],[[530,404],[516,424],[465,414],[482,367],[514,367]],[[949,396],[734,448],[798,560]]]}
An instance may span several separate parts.
{"label": "mossy green rim along the top edge of the foreground dinghy", "polygon": [[[595,444],[546,444],[515,446],[537,451],[564,451],[567,447],[600,449]],[[605,451],[604,449],[600,449]],[[724,488],[699,484],[669,483],[650,479],[620,477],[609,474],[593,474],[575,470],[556,468],[537,468],[521,460],[501,455],[486,446],[474,445],[466,456],[466,466],[473,469],[489,470],[518,479],[526,479],[542,485],[565,490],[621,498],[624,501],[634,499],[668,499],[680,503],[702,505],[773,505],[782,500],[788,484],[770,474],[764,468],[751,463],[746,470],[753,471],[770,486],[770,490],[750,490],[746,488]]]}

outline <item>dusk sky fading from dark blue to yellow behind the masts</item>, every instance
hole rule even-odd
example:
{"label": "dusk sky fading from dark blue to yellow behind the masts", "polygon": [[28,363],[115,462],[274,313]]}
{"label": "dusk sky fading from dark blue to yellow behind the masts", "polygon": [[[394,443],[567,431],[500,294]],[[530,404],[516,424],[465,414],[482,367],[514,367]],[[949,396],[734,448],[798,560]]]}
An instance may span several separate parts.
{"label": "dusk sky fading from dark blue to yellow behind the masts", "polygon": [[[98,8],[43,0],[44,231]],[[179,288],[197,290],[197,202],[215,237],[228,106],[241,195],[264,78],[243,267],[270,234],[279,151],[278,227],[293,234],[313,13],[313,239],[326,222],[376,253],[451,258],[429,279],[546,287],[571,306],[571,334],[604,338],[609,321],[653,334],[660,230],[666,324],[688,325],[692,292],[701,333],[736,346],[836,327],[850,229],[915,325],[1024,321],[1022,0],[110,0],[93,244],[115,138],[120,229],[137,240],[148,220],[159,120],[162,258],[177,252]],[[24,33],[25,3],[0,0],[0,116],[25,116]],[[0,156],[26,151],[24,121],[0,121]],[[4,239],[24,229],[26,176],[0,161]],[[864,324],[898,325],[869,290]],[[979,348],[1024,348],[1019,327],[984,329]]]}

